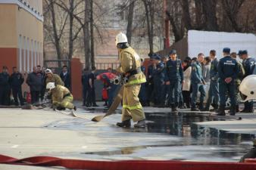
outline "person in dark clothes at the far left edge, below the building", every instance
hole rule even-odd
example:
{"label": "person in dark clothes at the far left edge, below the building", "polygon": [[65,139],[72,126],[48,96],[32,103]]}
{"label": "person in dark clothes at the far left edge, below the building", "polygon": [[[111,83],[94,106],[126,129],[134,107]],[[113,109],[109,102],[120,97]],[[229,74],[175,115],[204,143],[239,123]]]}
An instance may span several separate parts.
{"label": "person in dark clothes at the far left edge, below the building", "polygon": [[2,73],[0,73],[0,105],[10,105],[10,94],[10,76],[7,66],[3,66]]}

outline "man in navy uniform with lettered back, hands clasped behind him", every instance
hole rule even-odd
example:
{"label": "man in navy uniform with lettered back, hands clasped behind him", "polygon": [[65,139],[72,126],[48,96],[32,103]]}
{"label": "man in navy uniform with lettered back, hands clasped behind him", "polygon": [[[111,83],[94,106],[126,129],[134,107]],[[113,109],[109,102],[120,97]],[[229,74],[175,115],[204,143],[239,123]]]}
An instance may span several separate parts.
{"label": "man in navy uniform with lettered back, hands clasped behind him", "polygon": [[235,59],[230,57],[230,48],[223,48],[223,58],[218,65],[220,83],[220,109],[219,116],[225,116],[226,94],[230,98],[230,115],[236,114],[236,85],[235,80],[239,74],[239,67]]}

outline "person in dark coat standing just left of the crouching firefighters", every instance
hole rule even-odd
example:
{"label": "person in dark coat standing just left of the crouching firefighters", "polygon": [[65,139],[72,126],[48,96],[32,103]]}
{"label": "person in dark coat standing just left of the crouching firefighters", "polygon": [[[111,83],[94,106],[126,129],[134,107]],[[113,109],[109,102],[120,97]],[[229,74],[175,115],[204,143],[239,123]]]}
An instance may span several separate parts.
{"label": "person in dark coat standing just left of the crouching firefighters", "polygon": [[30,86],[31,103],[37,104],[42,89],[42,74],[37,71],[36,66],[33,67],[33,72],[27,76],[26,82]]}

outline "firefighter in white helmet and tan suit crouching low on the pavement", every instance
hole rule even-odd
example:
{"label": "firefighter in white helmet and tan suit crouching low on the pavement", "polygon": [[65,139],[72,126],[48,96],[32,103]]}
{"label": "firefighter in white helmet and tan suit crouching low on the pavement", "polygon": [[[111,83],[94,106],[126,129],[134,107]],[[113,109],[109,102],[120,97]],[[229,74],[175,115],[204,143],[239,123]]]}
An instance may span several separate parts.
{"label": "firefighter in white helmet and tan suit crouching low on the pavement", "polygon": [[76,110],[73,104],[73,95],[70,91],[62,85],[56,85],[54,82],[48,82],[46,90],[52,94],[52,108],[55,110]]}

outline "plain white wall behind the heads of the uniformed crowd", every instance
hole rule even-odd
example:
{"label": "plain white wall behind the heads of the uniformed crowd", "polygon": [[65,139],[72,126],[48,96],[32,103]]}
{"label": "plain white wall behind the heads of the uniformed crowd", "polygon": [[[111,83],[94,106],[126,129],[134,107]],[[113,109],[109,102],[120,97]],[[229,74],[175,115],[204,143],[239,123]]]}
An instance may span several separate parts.
{"label": "plain white wall behind the heads of the uniformed crowd", "polygon": [[247,50],[251,57],[256,57],[256,36],[254,34],[237,32],[207,32],[189,30],[188,54],[197,57],[198,53],[209,55],[209,51],[216,50],[220,59],[223,48],[230,48],[231,52]]}

